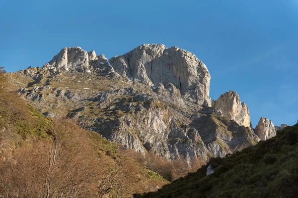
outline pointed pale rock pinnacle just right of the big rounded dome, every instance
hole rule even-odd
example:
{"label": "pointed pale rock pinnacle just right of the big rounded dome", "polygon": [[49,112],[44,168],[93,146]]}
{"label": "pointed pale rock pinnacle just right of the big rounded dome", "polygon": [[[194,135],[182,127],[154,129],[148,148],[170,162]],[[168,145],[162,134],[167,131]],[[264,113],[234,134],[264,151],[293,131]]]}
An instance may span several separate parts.
{"label": "pointed pale rock pinnacle just right of the big rounded dome", "polygon": [[251,127],[247,105],[240,101],[239,95],[229,91],[220,96],[218,100],[212,100],[212,107],[218,108],[224,117],[235,120],[239,125]]}

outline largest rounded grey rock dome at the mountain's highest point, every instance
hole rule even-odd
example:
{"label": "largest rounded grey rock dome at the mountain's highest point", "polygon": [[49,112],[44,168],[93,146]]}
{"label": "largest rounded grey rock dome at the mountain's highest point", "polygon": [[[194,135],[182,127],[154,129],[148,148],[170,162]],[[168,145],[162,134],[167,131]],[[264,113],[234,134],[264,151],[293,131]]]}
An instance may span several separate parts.
{"label": "largest rounded grey rock dome at the mountain's highest point", "polygon": [[185,99],[211,106],[210,74],[205,64],[184,49],[164,45],[142,45],[110,59],[120,75],[139,80],[149,86],[173,84]]}

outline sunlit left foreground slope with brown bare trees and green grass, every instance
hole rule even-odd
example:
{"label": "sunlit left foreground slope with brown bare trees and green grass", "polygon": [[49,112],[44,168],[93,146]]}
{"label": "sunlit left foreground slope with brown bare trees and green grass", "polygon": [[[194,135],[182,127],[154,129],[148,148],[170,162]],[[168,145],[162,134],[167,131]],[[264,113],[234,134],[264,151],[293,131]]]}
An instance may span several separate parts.
{"label": "sunlit left foreground slope with brown bare trees and green grass", "polygon": [[[0,70],[0,197],[131,197],[168,183],[74,119],[46,118]],[[138,155],[137,155],[138,156]]]}

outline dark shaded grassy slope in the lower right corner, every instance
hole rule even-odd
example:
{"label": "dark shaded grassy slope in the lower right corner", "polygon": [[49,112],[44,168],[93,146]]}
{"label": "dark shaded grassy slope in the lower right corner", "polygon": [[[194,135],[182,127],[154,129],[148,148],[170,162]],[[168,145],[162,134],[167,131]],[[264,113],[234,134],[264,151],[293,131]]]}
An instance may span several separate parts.
{"label": "dark shaded grassy slope in the lower right corner", "polygon": [[[144,198],[295,198],[298,195],[298,124],[270,140],[208,165]],[[137,195],[136,197],[142,197]]]}

